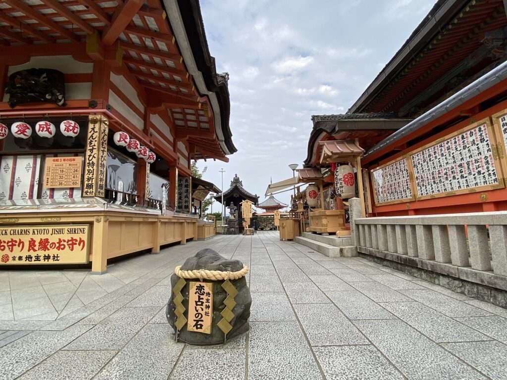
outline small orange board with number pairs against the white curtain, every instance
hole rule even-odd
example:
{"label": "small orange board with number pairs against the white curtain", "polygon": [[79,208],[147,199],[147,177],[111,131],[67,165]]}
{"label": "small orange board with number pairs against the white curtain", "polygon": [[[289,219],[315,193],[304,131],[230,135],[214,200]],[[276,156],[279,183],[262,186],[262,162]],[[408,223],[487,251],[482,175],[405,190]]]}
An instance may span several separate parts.
{"label": "small orange board with number pairs against the white curtain", "polygon": [[48,157],[44,172],[44,187],[80,187],[82,157]]}

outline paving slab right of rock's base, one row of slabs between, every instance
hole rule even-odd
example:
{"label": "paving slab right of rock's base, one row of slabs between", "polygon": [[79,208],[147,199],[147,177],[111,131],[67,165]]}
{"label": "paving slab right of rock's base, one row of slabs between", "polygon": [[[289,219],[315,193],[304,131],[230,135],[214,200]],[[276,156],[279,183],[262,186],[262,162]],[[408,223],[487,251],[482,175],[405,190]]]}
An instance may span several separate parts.
{"label": "paving slab right of rock's base, one row of slabs between", "polygon": [[333,303],[294,305],[294,310],[312,346],[369,344]]}

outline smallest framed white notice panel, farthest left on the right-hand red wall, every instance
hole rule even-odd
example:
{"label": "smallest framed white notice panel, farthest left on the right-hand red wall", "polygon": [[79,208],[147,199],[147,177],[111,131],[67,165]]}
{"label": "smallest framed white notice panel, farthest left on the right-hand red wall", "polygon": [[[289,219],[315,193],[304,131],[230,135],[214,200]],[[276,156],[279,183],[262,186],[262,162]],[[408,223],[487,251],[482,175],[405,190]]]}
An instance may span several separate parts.
{"label": "smallest framed white notice panel, farthest left on the right-hand red wall", "polygon": [[376,205],[414,200],[405,157],[373,169],[371,177]]}

